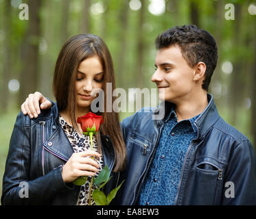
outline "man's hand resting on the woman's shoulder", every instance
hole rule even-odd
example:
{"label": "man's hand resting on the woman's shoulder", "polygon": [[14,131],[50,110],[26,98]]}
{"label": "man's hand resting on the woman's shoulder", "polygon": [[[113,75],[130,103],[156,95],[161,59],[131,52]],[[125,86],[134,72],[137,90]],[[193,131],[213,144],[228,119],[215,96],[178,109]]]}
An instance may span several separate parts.
{"label": "man's hand resting on the woman's shoulder", "polygon": [[[39,107],[40,105],[40,107]],[[40,109],[45,110],[51,107],[51,102],[48,101],[40,92],[29,94],[25,102],[21,105],[21,111],[24,115],[30,118],[36,118],[40,114]]]}

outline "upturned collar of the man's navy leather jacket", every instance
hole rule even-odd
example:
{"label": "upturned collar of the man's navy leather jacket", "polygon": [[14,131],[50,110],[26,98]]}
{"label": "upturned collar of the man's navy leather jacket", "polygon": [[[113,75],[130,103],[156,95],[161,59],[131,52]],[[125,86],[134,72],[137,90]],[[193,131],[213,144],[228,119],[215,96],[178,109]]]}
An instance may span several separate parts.
{"label": "upturned collar of the man's navy leather jacket", "polygon": [[[205,110],[198,116],[198,118],[194,121],[196,128],[198,129],[197,139],[204,136],[205,133],[216,123],[216,121],[220,118],[218,114],[218,110],[213,100],[212,94],[207,94],[208,105]],[[174,107],[174,103],[163,101],[160,103],[159,107],[154,110],[153,114],[159,114],[161,110],[164,109],[165,116],[162,120],[156,120],[156,123],[162,125],[163,122],[166,122],[170,119],[171,110]]]}

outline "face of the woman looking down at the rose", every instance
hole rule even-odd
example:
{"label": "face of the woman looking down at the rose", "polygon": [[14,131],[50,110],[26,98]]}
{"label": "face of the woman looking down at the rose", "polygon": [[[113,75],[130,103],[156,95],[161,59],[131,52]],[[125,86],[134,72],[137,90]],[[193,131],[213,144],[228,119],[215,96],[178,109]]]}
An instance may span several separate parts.
{"label": "face of the woman looking down at the rose", "polygon": [[80,63],[75,81],[78,114],[89,112],[91,102],[96,98],[95,91],[103,88],[103,79],[104,71],[97,55],[88,57]]}

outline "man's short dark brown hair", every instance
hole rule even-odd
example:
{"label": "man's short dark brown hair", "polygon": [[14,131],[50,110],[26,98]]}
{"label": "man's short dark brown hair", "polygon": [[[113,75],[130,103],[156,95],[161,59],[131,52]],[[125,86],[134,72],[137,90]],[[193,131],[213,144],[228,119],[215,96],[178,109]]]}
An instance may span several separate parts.
{"label": "man's short dark brown hair", "polygon": [[202,88],[208,90],[218,60],[216,41],[209,32],[199,29],[196,25],[176,26],[159,34],[155,43],[156,49],[168,48],[178,44],[184,59],[191,67],[194,67],[198,62],[204,62],[207,68]]}

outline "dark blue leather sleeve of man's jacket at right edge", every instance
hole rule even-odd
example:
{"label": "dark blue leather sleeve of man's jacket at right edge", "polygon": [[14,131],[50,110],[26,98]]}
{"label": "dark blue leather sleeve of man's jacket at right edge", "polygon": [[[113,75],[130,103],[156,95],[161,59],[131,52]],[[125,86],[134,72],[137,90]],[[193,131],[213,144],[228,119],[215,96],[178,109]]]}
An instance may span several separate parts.
{"label": "dark blue leather sleeve of man's jacket at right edge", "polygon": [[249,140],[233,151],[224,178],[222,205],[256,205],[256,159]]}

